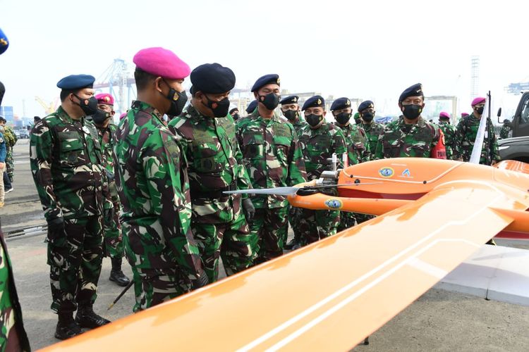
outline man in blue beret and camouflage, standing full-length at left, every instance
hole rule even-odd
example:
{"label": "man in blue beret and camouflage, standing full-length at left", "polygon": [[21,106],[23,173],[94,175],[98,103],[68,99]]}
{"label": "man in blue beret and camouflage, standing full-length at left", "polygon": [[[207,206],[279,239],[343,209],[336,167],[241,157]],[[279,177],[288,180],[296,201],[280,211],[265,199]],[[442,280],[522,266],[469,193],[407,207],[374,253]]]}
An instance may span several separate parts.
{"label": "man in blue beret and camouflage, standing full-length at left", "polygon": [[86,119],[97,111],[94,80],[90,75],[60,80],[61,106],[37,122],[30,138],[31,172],[48,222],[57,339],[109,322],[92,310],[101,272],[103,217],[111,216],[104,211],[110,197],[101,145],[94,124]]}

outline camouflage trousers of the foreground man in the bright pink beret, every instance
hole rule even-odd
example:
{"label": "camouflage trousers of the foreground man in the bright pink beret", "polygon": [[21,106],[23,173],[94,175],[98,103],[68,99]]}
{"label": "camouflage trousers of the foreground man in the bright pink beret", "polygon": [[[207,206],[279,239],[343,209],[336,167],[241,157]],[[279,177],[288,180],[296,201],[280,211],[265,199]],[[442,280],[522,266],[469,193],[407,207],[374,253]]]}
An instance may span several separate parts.
{"label": "camouflage trousers of the foreground man in the bright pink beret", "polygon": [[132,272],[136,298],[134,312],[156,306],[191,291],[189,279],[178,269],[140,268],[132,265]]}

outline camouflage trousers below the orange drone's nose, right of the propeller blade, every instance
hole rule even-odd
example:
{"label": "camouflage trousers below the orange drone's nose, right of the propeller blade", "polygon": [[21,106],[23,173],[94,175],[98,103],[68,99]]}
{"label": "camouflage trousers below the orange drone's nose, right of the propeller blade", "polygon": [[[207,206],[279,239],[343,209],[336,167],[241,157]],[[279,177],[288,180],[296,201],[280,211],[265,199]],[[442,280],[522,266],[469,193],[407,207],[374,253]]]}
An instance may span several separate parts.
{"label": "camouflage trousers below the orange drone's nose, right of the propeller blade", "polygon": [[338,210],[302,209],[300,213],[300,232],[303,244],[310,244],[336,234],[340,223]]}

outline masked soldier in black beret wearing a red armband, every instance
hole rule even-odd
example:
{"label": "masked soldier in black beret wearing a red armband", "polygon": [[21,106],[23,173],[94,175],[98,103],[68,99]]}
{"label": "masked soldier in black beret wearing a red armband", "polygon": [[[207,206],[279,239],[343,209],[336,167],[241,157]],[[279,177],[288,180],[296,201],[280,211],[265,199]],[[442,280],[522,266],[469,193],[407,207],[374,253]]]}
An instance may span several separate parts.
{"label": "masked soldier in black beret wearing a red armband", "polygon": [[389,122],[379,135],[375,158],[446,159],[442,131],[422,118],[424,95],[420,83],[413,84],[399,97],[399,108],[403,115]]}

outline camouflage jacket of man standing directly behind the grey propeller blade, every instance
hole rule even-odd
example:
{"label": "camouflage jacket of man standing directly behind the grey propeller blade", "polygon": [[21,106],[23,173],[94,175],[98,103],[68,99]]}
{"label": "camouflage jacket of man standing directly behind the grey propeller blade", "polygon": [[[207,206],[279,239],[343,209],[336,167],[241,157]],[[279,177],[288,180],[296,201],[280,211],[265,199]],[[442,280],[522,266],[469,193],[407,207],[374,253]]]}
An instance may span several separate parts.
{"label": "camouflage jacket of man standing directly behind the grey propeller blade", "polygon": [[[305,164],[298,137],[290,122],[274,113],[262,118],[255,110],[236,123],[237,140],[253,188],[287,187],[306,181]],[[255,208],[280,208],[288,205],[286,196],[252,197]]]}

